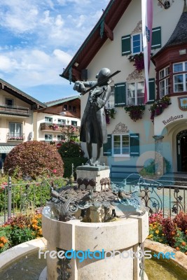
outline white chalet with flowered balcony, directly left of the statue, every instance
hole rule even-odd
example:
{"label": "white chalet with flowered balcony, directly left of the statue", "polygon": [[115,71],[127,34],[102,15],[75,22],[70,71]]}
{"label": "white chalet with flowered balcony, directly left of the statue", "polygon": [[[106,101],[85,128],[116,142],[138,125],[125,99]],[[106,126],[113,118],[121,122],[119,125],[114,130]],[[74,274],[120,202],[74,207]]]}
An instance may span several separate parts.
{"label": "white chalet with flowered balcony, directly left of the statue", "polygon": [[68,134],[79,136],[81,99],[78,95],[46,102],[46,108],[34,112],[34,137],[38,141],[58,144]]}

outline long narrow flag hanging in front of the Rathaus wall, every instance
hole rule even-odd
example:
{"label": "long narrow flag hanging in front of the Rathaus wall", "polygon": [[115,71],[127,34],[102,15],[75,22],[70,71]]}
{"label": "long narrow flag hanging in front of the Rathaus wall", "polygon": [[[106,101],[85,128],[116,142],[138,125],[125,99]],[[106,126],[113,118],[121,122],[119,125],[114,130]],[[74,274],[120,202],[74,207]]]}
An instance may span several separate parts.
{"label": "long narrow flag hanging in front of the Rathaus wall", "polygon": [[141,0],[141,18],[145,69],[144,104],[146,104],[146,102],[148,102],[149,99],[148,72],[151,59],[153,0]]}

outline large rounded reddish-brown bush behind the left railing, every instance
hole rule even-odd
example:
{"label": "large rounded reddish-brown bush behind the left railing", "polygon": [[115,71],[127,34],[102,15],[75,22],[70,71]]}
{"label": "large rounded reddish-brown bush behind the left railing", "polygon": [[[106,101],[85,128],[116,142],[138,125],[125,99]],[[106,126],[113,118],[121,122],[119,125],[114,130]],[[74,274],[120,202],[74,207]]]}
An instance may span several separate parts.
{"label": "large rounded reddish-brown bush behind the left railing", "polygon": [[[16,174],[15,174],[16,171]],[[63,162],[57,148],[41,141],[28,141],[15,146],[4,161],[4,172],[10,176],[63,176]]]}

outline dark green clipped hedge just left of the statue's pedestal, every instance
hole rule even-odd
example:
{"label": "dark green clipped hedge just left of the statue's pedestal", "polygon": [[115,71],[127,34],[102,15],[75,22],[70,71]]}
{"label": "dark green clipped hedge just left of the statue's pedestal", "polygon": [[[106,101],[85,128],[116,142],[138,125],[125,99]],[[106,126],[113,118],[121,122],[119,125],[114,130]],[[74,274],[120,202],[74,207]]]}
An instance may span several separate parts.
{"label": "dark green clipped hedge just left of the statue's pedestal", "polygon": [[76,167],[85,164],[88,158],[64,158],[64,178],[69,178],[72,174],[72,164],[74,165],[74,179],[76,179]]}

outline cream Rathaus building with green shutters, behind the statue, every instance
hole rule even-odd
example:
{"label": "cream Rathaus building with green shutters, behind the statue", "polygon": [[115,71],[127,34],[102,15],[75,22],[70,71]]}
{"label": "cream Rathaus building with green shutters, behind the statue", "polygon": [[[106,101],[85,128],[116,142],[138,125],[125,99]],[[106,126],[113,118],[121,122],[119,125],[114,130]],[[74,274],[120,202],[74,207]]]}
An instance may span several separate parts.
{"label": "cream Rathaus building with green shutters, behind the statue", "polygon": [[[146,166],[155,160],[155,173],[161,176],[167,160],[171,172],[187,172],[186,0],[153,0],[145,109],[141,107],[145,78],[142,52],[141,1],[109,1],[62,77],[73,82],[95,80],[103,67],[112,73],[120,70],[113,76],[113,94],[106,104],[116,111],[107,125],[108,143],[104,145],[109,166]],[[81,97],[81,112],[87,98]]]}

